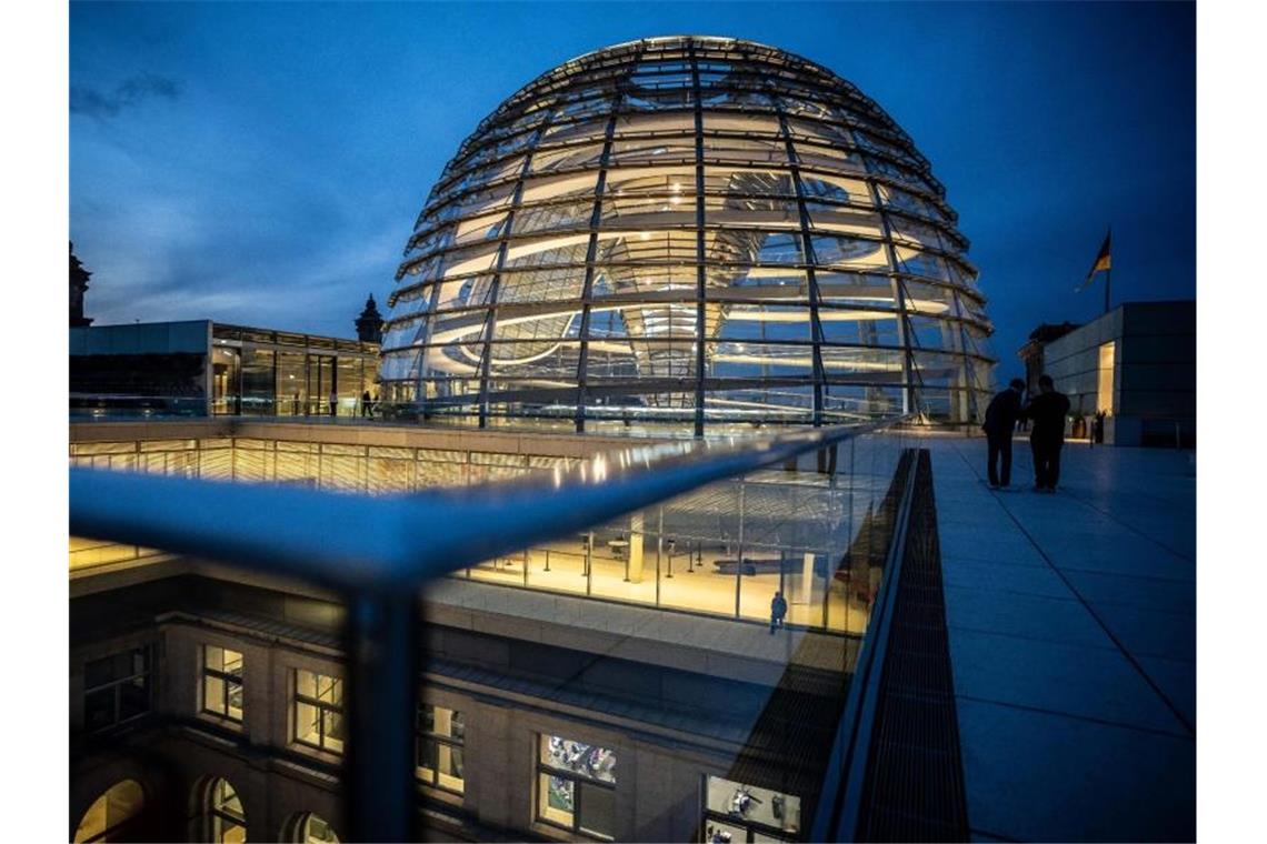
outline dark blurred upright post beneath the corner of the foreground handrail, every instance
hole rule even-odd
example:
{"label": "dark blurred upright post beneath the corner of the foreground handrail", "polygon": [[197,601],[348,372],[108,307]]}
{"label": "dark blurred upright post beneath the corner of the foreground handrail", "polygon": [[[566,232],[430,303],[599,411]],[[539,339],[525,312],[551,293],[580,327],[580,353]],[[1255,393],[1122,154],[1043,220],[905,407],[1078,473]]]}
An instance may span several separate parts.
{"label": "dark blurred upright post beneath the corner of the foreground handrail", "polygon": [[348,695],[343,795],[353,841],[416,840],[413,730],[418,595],[383,585],[347,601]]}

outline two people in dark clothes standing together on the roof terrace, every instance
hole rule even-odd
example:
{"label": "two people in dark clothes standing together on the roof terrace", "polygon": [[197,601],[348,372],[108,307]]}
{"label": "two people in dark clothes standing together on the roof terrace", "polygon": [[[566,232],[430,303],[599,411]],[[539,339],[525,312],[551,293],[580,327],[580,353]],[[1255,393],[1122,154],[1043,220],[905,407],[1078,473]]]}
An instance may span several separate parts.
{"label": "two people in dark clothes standing together on the roof terrace", "polygon": [[1012,431],[1019,420],[1033,421],[1030,449],[1034,452],[1034,488],[1055,492],[1060,480],[1060,449],[1064,447],[1064,418],[1069,414],[1069,399],[1055,391],[1050,376],[1038,380],[1039,395],[1021,404],[1025,382],[1012,378],[986,409],[988,475],[991,488],[1006,487],[1012,475]]}

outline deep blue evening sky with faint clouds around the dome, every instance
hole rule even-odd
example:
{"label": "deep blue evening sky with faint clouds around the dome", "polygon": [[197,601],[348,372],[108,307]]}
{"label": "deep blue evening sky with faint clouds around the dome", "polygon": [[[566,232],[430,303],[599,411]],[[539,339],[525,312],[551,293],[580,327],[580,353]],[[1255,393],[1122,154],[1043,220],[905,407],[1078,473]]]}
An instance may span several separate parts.
{"label": "deep blue evening sky with faint clouds around the dome", "polygon": [[1114,300],[1196,295],[1191,4],[71,4],[71,239],[98,324],[352,335],[475,124],[551,67],[748,38],[853,81],[933,162],[1003,367],[1106,225]]}

